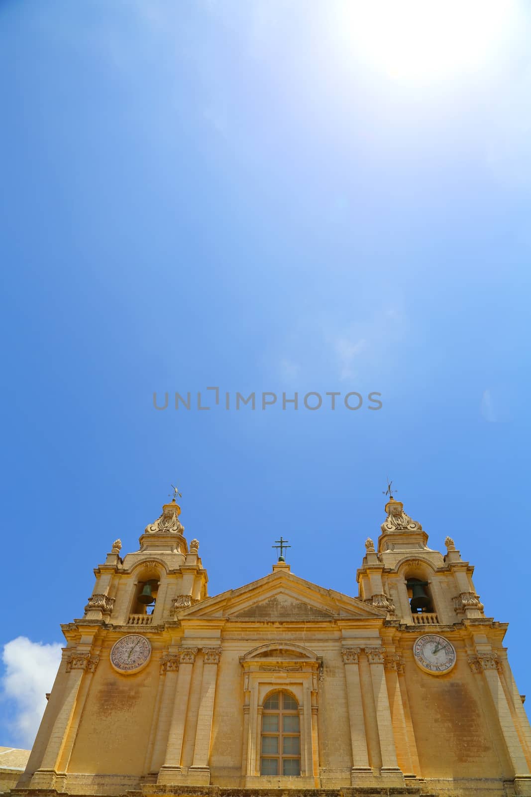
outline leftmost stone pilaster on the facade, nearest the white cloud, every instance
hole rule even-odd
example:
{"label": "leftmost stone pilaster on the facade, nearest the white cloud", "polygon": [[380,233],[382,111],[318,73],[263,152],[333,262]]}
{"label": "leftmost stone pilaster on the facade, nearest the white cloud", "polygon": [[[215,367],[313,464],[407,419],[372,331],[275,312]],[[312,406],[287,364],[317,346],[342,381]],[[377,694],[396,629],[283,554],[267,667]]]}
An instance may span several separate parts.
{"label": "leftmost stone pilaster on the facade, nearest the white cloud", "polygon": [[[56,701],[61,701],[61,708],[53,721],[52,732],[49,735],[48,744],[42,756],[41,764],[37,771],[34,772],[29,783],[31,788],[53,789],[55,787],[57,768],[61,758],[64,757],[63,752],[65,752],[68,758],[70,757],[70,752],[72,752],[73,737],[76,731],[76,728],[72,728],[72,721],[76,710],[81,681],[83,680],[83,673],[86,670],[88,670],[89,673],[93,673],[99,661],[100,658],[98,656],[91,656],[90,653],[85,651],[72,651],[72,653],[69,654],[67,652],[64,662],[65,672],[69,673],[69,675],[68,678],[66,678],[64,690],[61,694],[57,694],[55,698]],[[53,710],[53,705],[49,705],[49,708]],[[80,713],[78,713],[78,721],[79,717]],[[69,749],[65,749],[69,731],[72,732],[70,734],[72,744]]]}

